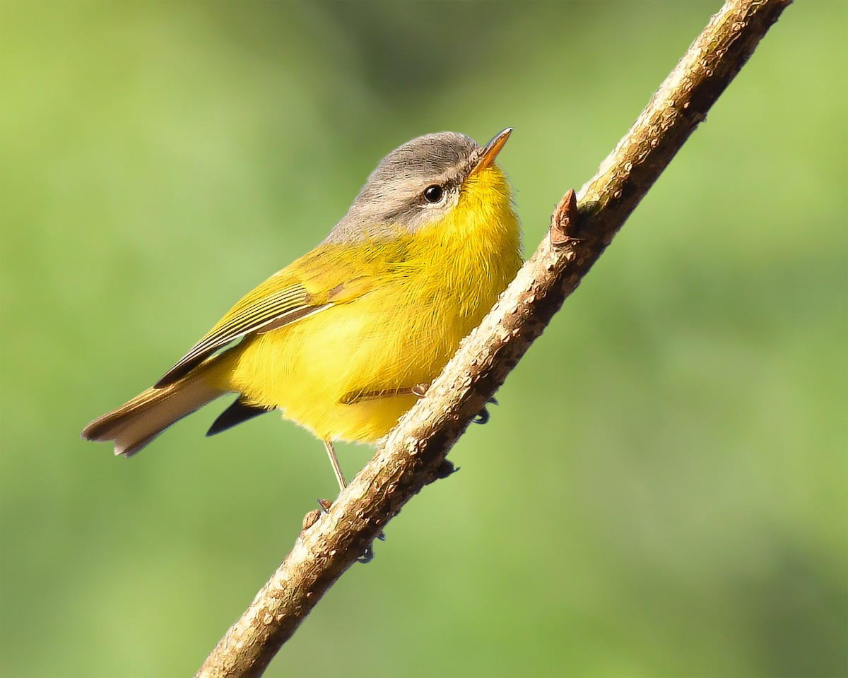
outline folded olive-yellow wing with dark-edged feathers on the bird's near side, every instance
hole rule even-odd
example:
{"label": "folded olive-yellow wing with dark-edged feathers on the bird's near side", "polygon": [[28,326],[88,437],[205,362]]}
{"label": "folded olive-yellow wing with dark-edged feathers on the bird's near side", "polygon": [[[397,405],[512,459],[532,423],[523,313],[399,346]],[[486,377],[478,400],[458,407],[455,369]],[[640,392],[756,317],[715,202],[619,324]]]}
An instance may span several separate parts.
{"label": "folded olive-yellow wing with dark-edged feathers on the bird's near side", "polygon": [[[329,248],[328,248],[329,249]],[[315,275],[315,271],[319,271]],[[377,277],[315,250],[249,292],[156,383],[167,386],[207,356],[254,332],[267,332],[370,292]]]}

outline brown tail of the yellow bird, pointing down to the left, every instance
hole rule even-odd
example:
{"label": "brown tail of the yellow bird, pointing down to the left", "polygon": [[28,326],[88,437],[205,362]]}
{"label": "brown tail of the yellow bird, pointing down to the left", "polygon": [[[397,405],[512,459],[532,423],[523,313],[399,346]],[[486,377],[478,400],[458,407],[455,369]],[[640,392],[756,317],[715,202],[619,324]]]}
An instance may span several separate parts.
{"label": "brown tail of the yellow bird, pointing down to the left", "polygon": [[82,437],[114,440],[114,453],[131,457],[175,421],[226,393],[209,386],[205,373],[201,365],[172,384],[148,388],[129,403],[92,421],[82,430]]}

